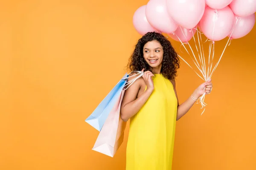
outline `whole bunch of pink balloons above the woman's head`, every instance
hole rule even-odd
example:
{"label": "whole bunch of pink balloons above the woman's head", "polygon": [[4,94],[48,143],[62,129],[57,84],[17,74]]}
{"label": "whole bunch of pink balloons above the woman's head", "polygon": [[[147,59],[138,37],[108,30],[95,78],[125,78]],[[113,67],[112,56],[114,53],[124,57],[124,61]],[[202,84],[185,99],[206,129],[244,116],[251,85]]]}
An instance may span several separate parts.
{"label": "whole bunch of pink balloons above the woman's head", "polygon": [[141,35],[151,31],[188,42],[197,27],[212,41],[247,35],[255,24],[256,0],[149,0],[134,13]]}

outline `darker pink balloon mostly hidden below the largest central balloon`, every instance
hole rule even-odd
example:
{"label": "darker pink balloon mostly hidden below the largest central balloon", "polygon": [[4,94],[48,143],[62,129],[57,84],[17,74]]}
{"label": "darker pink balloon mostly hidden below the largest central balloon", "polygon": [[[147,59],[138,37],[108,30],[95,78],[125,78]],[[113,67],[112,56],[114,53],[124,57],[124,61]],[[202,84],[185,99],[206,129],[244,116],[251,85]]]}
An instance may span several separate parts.
{"label": "darker pink balloon mostly hidden below the largest central balloon", "polygon": [[[196,28],[196,27],[195,27]],[[181,26],[177,28],[174,34],[169,34],[169,36],[178,42],[188,42],[195,35],[196,29],[186,29]],[[179,37],[179,38],[178,38]],[[180,39],[180,40],[179,40]]]}

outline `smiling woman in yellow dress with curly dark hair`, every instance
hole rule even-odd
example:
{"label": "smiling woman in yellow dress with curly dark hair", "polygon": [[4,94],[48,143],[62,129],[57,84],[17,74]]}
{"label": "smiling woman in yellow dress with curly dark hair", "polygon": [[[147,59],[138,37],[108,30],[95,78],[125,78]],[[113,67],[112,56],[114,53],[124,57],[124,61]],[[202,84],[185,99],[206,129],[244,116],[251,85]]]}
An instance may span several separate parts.
{"label": "smiling woman in yellow dress with curly dark hair", "polygon": [[138,41],[128,67],[144,75],[125,91],[121,105],[121,119],[131,118],[126,170],[171,170],[176,121],[201,95],[210,93],[211,80],[179,105],[175,89],[179,59],[169,40],[156,32]]}

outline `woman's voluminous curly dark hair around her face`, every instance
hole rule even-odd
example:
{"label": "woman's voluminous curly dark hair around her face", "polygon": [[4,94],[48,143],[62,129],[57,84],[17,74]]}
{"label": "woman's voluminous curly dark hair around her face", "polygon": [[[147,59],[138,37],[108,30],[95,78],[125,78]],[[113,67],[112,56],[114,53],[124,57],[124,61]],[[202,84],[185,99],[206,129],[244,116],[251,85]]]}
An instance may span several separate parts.
{"label": "woman's voluminous curly dark hair around her face", "polygon": [[141,37],[140,40],[138,40],[137,44],[135,45],[134,52],[129,59],[127,68],[130,71],[141,71],[144,68],[145,71],[152,72],[152,68],[148,65],[143,57],[143,47],[147,42],[153,40],[160,42],[163,47],[161,74],[166,79],[175,79],[175,77],[177,77],[177,69],[180,68],[180,60],[177,57],[177,53],[172,47],[171,42],[167,40],[166,37],[164,37],[162,34],[157,32],[148,32],[143,37]]}

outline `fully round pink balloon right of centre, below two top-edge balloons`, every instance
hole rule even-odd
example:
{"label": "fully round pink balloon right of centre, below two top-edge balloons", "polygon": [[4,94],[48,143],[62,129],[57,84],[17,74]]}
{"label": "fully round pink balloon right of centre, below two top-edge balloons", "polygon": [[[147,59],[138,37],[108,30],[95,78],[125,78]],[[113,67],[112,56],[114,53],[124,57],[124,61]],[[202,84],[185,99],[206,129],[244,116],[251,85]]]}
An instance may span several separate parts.
{"label": "fully round pink balloon right of centre, below two top-edge balloons", "polygon": [[222,40],[232,30],[234,20],[235,16],[228,6],[218,10],[208,6],[200,21],[201,31],[212,41]]}

